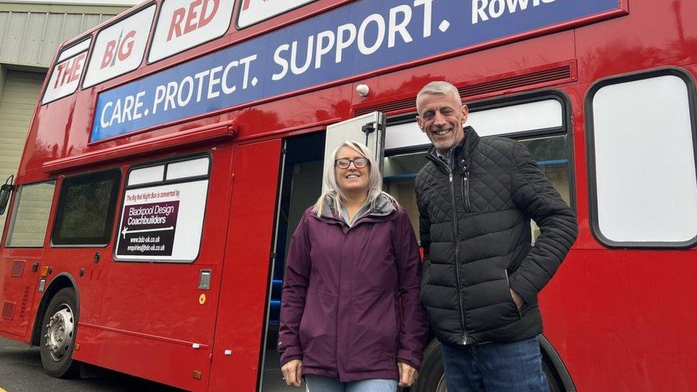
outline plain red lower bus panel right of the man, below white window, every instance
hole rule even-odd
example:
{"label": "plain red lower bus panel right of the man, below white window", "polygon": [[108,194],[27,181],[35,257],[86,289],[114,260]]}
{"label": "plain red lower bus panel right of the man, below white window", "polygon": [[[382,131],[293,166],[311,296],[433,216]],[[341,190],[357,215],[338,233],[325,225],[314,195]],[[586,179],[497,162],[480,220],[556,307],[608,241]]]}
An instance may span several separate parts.
{"label": "plain red lower bus panel right of the man, below white window", "polygon": [[570,253],[541,306],[545,335],[578,391],[694,389],[695,253]]}

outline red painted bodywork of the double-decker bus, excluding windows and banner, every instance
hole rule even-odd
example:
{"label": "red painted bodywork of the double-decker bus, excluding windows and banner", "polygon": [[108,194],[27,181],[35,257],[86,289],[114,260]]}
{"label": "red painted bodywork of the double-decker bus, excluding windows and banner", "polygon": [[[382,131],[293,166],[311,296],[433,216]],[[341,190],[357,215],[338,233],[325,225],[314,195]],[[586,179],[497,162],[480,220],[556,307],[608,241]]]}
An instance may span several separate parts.
{"label": "red painted bodywork of the double-decker bus, excluding windows and banner", "polygon": [[[281,138],[348,119],[356,109],[408,99],[431,80],[468,86],[523,69],[573,64],[573,78],[543,87],[562,91],[571,103],[574,200],[580,223],[576,244],[541,296],[545,334],[579,391],[690,391],[697,384],[697,360],[692,356],[697,350],[692,331],[697,313],[691,311],[691,298],[697,294],[692,278],[697,274],[696,250],[610,250],[593,238],[588,221],[583,110],[588,88],[608,76],[663,66],[681,67],[697,76],[696,1],[622,0],[628,14],[623,11],[626,15],[613,19],[423,59],[304,94],[288,94],[89,144],[91,108],[99,91],[347,2],[319,0],[242,31],[233,27],[220,39],[186,54],[151,66],[144,63],[132,74],[39,106],[18,184],[60,179],[77,172],[76,166],[89,171],[121,167],[125,174],[131,164],[212,151],[202,253],[191,265],[152,268],[114,263],[114,241],[99,249],[108,256],[99,266],[91,261],[94,248],[51,248],[48,239],[43,249],[3,247],[0,292],[20,303],[25,286],[33,294],[27,300],[26,318],[0,319],[0,334],[31,341],[42,300],[36,290],[39,279],[28,269],[21,278],[11,278],[9,268],[18,259],[26,260],[27,266],[39,261],[41,266],[53,268],[48,283],[57,274],[68,273],[78,285],[82,313],[81,348],[76,358],[196,391],[229,390],[231,385],[236,391],[253,391],[266,311]],[[368,84],[371,94],[359,97],[354,92],[357,84]],[[521,86],[475,98],[539,87]],[[391,114],[411,111],[413,108]],[[181,146],[173,137],[191,134],[194,129],[216,129],[216,124],[231,121],[237,124],[236,137],[231,140],[216,136],[199,140],[202,144],[197,146]],[[159,145],[148,147],[150,141]],[[51,215],[49,228],[53,220]],[[88,269],[91,279],[79,278],[81,267]],[[206,292],[203,306],[196,288],[200,268],[214,271],[214,290]],[[136,317],[135,309],[139,309]],[[199,348],[192,348],[193,343],[199,343]],[[224,349],[230,349],[231,356],[225,356]],[[194,379],[193,371],[201,371],[203,378]]]}

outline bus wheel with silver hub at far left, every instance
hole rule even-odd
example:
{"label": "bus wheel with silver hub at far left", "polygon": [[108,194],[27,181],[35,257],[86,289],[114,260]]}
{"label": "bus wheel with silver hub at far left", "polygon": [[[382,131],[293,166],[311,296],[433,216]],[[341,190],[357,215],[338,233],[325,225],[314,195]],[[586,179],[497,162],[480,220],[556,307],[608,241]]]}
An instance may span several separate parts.
{"label": "bus wheel with silver hub at far left", "polygon": [[77,329],[75,291],[62,288],[44,313],[41,323],[41,364],[49,376],[67,378],[76,376],[79,363],[73,361]]}

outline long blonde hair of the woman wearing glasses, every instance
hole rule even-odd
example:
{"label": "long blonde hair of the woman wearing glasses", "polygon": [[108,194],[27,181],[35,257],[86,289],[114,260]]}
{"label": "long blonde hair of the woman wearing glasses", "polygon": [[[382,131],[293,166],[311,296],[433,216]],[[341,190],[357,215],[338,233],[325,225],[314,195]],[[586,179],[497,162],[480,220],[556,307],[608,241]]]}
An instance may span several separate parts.
{"label": "long blonde hair of the woman wearing glasses", "polygon": [[341,191],[341,188],[339,188],[339,183],[336,181],[336,169],[334,168],[336,155],[339,154],[339,150],[343,149],[344,147],[349,147],[349,149],[353,149],[358,152],[358,154],[361,154],[363,158],[368,159],[368,166],[370,167],[370,175],[368,176],[368,202],[371,204],[374,203],[375,199],[380,194],[385,194],[391,200],[394,200],[392,196],[389,196],[382,191],[382,176],[380,174],[378,164],[375,161],[375,157],[370,149],[368,149],[365,144],[359,143],[358,141],[346,140],[344,143],[337,146],[334,151],[332,151],[331,159],[324,163],[324,184],[327,187],[327,191],[319,196],[314,208],[312,208],[312,212],[316,216],[321,216],[325,212],[326,200],[328,197],[334,197],[335,203],[343,203],[346,200],[346,195],[344,195],[344,192]]}

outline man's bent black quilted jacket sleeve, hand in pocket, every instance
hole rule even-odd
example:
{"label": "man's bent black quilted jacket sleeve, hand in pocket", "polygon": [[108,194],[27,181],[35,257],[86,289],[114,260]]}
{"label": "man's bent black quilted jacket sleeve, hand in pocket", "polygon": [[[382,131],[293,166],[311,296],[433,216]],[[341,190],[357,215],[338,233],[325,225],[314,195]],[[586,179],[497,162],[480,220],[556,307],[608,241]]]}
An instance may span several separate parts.
{"label": "man's bent black quilted jacket sleeve, hand in pocket", "polygon": [[578,223],[566,201],[540,171],[523,144],[513,148],[513,201],[540,228],[540,236],[518,269],[510,285],[526,303],[536,303],[537,293],[552,278],[576,241]]}

